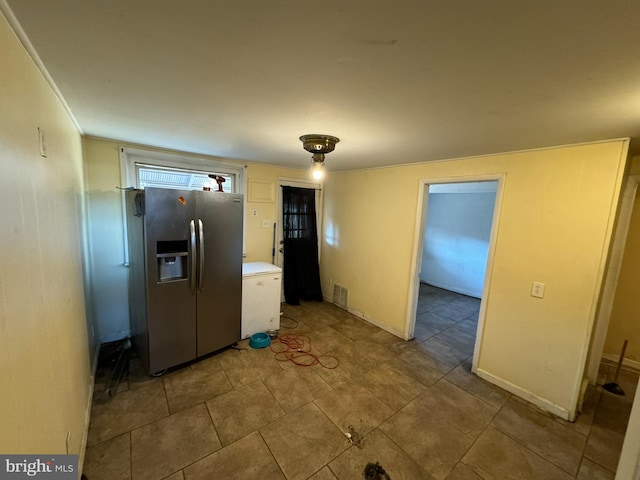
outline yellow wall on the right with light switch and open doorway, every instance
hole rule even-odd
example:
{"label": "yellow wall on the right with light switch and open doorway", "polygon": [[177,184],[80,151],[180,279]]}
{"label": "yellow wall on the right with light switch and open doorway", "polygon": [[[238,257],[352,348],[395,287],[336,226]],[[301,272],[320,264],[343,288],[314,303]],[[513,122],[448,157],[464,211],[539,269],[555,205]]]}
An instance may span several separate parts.
{"label": "yellow wall on the right with light switch and open doorway", "polygon": [[[323,289],[330,291],[329,279],[348,287],[350,309],[406,334],[420,181],[504,174],[478,371],[571,416],[627,143],[332,174],[325,183]],[[534,280],[546,283],[542,300],[529,295]]]}

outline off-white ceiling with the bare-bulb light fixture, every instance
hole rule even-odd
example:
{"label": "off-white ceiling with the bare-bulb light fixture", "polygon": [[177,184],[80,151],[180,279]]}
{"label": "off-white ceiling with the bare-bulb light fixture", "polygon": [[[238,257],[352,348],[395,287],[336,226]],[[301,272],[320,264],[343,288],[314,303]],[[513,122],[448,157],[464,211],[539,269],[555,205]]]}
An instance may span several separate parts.
{"label": "off-white ceiling with the bare-bulb light fixture", "polygon": [[637,0],[0,6],[85,135],[306,168],[323,133],[328,170],[640,137]]}

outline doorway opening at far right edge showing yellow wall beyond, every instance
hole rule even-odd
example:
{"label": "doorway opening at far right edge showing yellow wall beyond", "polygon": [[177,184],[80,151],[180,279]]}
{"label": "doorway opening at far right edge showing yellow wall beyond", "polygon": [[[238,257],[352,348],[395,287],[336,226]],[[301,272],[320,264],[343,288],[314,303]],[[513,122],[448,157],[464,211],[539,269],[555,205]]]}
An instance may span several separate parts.
{"label": "doorway opening at far right edge showing yellow wall beyond", "polygon": [[[606,435],[606,442],[615,445],[612,452],[607,452],[607,458],[609,469],[617,469],[616,478],[634,479],[640,478],[640,390],[637,388],[640,329],[636,327],[639,311],[636,300],[637,246],[640,244],[639,184],[640,175],[630,175],[623,187],[609,267],[605,274],[578,406],[582,411],[588,409],[588,394],[596,392],[601,395],[599,405],[606,404],[611,411],[617,412],[615,421],[600,425],[595,432],[600,436]],[[623,355],[624,347],[622,351],[619,350],[623,339],[625,345],[627,341],[632,345],[626,350],[627,355]],[[619,367],[622,366],[621,371],[614,366],[618,362]],[[586,386],[587,379],[591,388]],[[614,395],[604,389],[600,392],[598,386],[609,382],[620,385],[623,395]],[[594,424],[598,423],[602,421],[596,409]],[[596,437],[594,441],[597,440],[600,439]]]}

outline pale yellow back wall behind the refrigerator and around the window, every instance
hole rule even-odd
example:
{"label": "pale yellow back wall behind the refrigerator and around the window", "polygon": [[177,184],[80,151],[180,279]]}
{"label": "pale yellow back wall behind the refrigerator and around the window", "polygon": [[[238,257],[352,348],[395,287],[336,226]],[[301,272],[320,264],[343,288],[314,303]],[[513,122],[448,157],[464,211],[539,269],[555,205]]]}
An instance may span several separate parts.
{"label": "pale yellow back wall behind the refrigerator and around the window", "polygon": [[[129,334],[127,267],[124,266],[120,147],[140,147],[124,142],[85,137],[83,139],[87,177],[89,236],[91,239],[91,294],[98,337],[112,341]],[[144,147],[161,153],[166,150]],[[304,152],[303,152],[304,154]],[[200,156],[200,158],[203,158]],[[204,157],[206,158],[206,157]],[[213,157],[210,157],[213,159]],[[221,159],[232,162],[229,159]],[[306,169],[288,169],[251,162],[246,165],[245,252],[247,262],[271,262],[273,221],[276,218],[278,178],[305,178]],[[252,211],[256,210],[256,216]],[[263,228],[262,221],[269,221]]]}

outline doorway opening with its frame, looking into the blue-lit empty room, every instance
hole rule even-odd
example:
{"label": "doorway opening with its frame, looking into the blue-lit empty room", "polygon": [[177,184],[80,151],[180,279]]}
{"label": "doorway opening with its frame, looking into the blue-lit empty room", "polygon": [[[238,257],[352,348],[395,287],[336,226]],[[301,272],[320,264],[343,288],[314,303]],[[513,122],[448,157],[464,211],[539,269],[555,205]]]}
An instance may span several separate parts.
{"label": "doorway opening with its frame, looking into the blue-lit empty room", "polygon": [[423,181],[407,338],[437,361],[475,371],[502,176]]}

